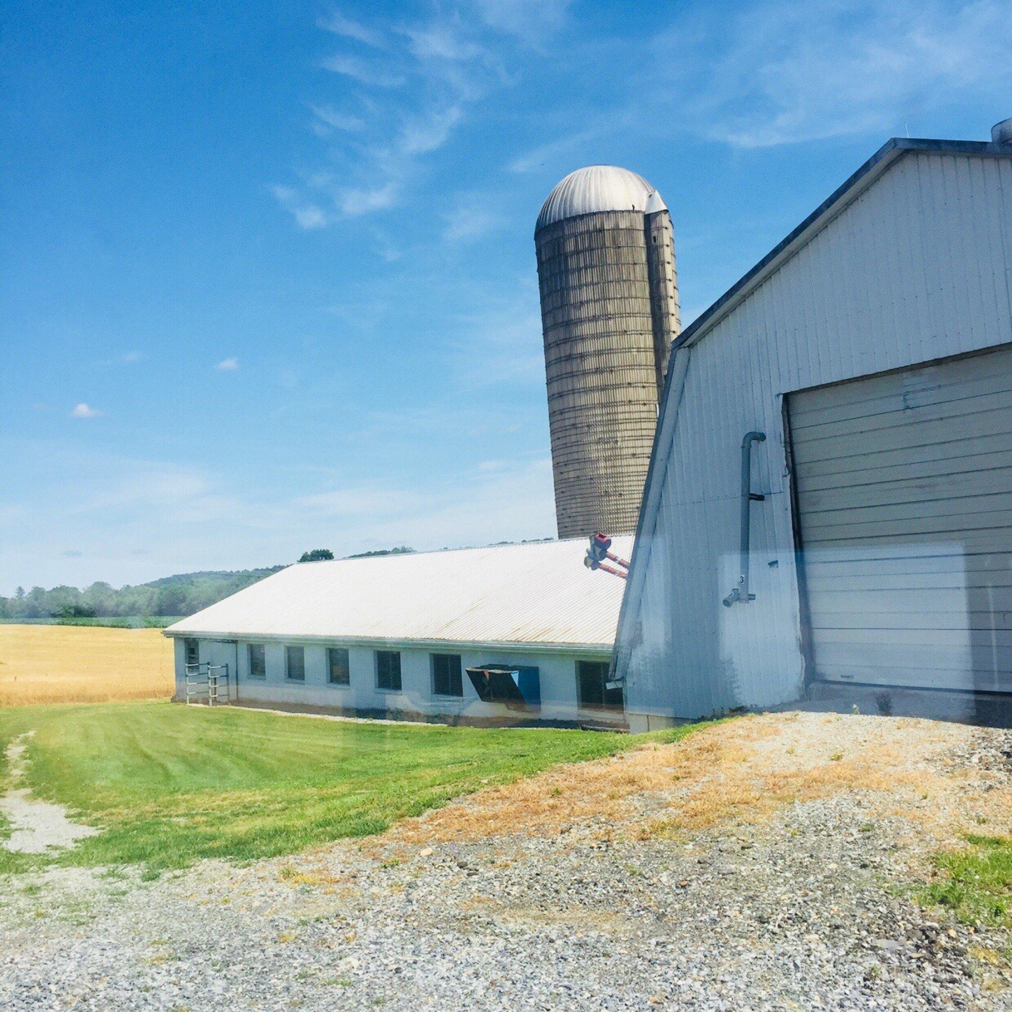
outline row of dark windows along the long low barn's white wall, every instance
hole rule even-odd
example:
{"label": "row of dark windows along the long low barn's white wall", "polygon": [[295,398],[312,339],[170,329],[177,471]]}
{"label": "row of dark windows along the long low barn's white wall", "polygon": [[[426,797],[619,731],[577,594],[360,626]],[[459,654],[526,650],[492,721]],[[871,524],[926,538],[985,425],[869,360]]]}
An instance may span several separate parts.
{"label": "row of dark windows along the long low barn's white wall", "polygon": [[[186,641],[186,663],[198,662],[199,650],[196,640]],[[250,678],[267,677],[267,656],[262,643],[246,645]],[[434,695],[462,696],[463,678],[459,654],[431,654],[432,692]],[[292,682],[306,681],[306,649],[304,647],[284,648],[284,677]],[[607,661],[578,661],[577,677],[582,706],[605,706],[621,708],[622,690],[620,686],[608,687]],[[396,650],[375,651],[376,688],[387,692],[401,691],[401,654]],[[348,652],[343,647],[327,649],[327,680],[331,685],[350,685],[351,667]]]}

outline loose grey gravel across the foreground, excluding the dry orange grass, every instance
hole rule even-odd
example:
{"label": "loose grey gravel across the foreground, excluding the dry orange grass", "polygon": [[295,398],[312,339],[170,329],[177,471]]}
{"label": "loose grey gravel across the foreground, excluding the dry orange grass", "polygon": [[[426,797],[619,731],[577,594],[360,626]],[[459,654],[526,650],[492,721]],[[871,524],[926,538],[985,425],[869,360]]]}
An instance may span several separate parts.
{"label": "loose grey gravel across the foreground, excluding the dry orange grass", "polygon": [[[792,719],[763,748],[804,749],[806,728],[812,742],[829,733],[824,720]],[[846,749],[889,720],[837,719],[832,737]],[[917,724],[930,727],[903,734]],[[935,734],[933,769],[959,789],[984,792],[960,771],[983,765],[984,782],[1007,767],[1005,732]],[[630,818],[677,810],[684,790],[630,796]],[[879,793],[841,788],[687,836],[590,817],[543,834],[204,862],[156,882],[8,876],[0,1008],[1012,1008],[1003,972],[986,977],[972,954],[1008,939],[897,888],[923,841]]]}

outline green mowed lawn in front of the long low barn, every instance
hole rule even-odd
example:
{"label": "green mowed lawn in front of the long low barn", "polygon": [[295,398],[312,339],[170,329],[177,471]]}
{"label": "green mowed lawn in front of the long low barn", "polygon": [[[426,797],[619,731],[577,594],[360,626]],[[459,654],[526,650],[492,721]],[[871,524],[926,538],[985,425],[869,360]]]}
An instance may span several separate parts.
{"label": "green mowed lawn in front of the long low barn", "polygon": [[[673,741],[688,730],[649,738]],[[0,709],[0,756],[27,731],[27,785],[102,832],[45,858],[0,848],[0,870],[45,862],[157,869],[292,853],[648,738],[99,703]]]}

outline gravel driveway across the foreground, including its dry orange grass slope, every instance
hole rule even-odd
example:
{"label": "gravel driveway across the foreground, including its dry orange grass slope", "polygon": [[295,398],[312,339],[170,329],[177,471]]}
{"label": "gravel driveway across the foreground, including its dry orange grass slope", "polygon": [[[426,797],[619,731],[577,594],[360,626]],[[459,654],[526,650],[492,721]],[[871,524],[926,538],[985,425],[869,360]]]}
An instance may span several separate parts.
{"label": "gravel driveway across the foreground, including its dry orange grass slope", "polygon": [[748,718],[298,857],[8,877],[0,1008],[1012,1009],[1009,939],[905,888],[1010,832],[1009,750]]}

